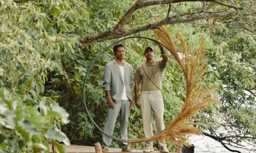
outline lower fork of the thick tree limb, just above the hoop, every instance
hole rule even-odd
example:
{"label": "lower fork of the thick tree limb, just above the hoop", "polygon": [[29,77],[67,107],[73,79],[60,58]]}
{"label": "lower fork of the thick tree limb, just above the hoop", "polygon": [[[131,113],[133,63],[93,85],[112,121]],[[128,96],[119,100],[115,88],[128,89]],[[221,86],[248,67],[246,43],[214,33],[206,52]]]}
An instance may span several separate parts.
{"label": "lower fork of the thick tree limb, just above the hoop", "polygon": [[[225,17],[228,14],[217,14],[217,15],[218,15],[218,17]],[[168,17],[168,18],[162,19],[160,21],[157,21],[155,23],[147,24],[147,25],[144,25],[144,26],[139,26],[139,27],[133,28],[131,30],[127,30],[127,31],[124,30],[124,29],[112,29],[112,30],[105,31],[105,32],[100,33],[100,34],[95,34],[95,35],[88,36],[88,37],[83,38],[79,41],[82,44],[90,44],[90,43],[94,43],[94,42],[101,42],[101,41],[105,41],[105,40],[111,40],[111,39],[115,39],[115,38],[130,36],[132,34],[142,32],[142,31],[146,31],[146,30],[157,29],[161,25],[165,25],[165,24],[187,23],[187,22],[191,22],[191,21],[214,18],[217,15],[214,15],[212,13],[211,14],[204,13],[202,15],[201,14],[200,15],[187,15],[187,18],[185,18],[185,19],[172,19],[171,17]]]}

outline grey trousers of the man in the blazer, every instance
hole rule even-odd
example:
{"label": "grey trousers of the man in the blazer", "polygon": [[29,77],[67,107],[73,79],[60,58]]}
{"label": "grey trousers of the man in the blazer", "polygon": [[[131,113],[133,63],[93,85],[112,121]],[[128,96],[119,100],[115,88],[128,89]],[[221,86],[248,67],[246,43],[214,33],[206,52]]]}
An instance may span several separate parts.
{"label": "grey trousers of the man in the blazer", "polygon": [[[113,135],[114,127],[116,124],[116,118],[120,114],[120,137],[121,139],[127,139],[127,122],[130,113],[131,100],[118,100],[114,101],[114,109],[108,108],[108,115],[106,116],[106,123],[104,126],[104,132]],[[102,147],[110,147],[112,138],[103,134]],[[129,147],[126,142],[121,142],[122,149]]]}

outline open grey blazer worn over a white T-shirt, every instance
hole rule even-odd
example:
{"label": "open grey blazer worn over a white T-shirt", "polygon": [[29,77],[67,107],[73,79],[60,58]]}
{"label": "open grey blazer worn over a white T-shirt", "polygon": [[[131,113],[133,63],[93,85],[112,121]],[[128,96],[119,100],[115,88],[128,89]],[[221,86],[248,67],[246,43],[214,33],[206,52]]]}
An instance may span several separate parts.
{"label": "open grey blazer worn over a white T-shirt", "polygon": [[[110,90],[113,100],[121,100],[123,94],[123,85],[127,97],[132,100],[133,92],[133,67],[131,64],[124,62],[124,80],[116,60],[106,64],[103,74],[103,90]],[[108,100],[105,99],[107,103]]]}

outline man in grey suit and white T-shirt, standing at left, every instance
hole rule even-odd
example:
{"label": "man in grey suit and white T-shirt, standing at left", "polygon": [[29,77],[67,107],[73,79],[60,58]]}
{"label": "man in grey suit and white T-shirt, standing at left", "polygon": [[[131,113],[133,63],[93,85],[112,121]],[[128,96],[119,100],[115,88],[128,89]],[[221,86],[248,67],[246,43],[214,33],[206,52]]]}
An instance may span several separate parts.
{"label": "man in grey suit and white T-shirt, standing at left", "polygon": [[[106,64],[103,75],[103,90],[109,106],[104,132],[113,135],[116,118],[120,114],[121,139],[127,139],[127,122],[133,107],[133,67],[124,62],[123,44],[116,44],[113,51],[116,59]],[[111,142],[112,139],[103,134],[103,152],[110,152]],[[133,152],[128,143],[121,142],[121,146],[122,152]]]}

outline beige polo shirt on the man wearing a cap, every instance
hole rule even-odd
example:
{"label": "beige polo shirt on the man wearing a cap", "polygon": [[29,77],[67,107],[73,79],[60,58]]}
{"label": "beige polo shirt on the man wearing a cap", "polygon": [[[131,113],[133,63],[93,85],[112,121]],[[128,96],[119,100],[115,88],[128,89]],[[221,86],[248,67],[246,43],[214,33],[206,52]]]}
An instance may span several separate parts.
{"label": "beige polo shirt on the man wearing a cap", "polygon": [[[162,80],[163,80],[163,71],[165,67],[162,66],[161,60],[155,60],[152,64],[148,64],[147,62],[142,63],[144,69],[151,80],[162,89]],[[148,79],[147,75],[144,72],[144,69],[140,64],[136,72],[134,74],[134,81],[141,83],[141,91],[156,91],[159,90],[156,85],[154,85],[150,79]]]}

